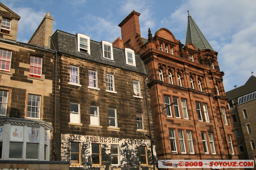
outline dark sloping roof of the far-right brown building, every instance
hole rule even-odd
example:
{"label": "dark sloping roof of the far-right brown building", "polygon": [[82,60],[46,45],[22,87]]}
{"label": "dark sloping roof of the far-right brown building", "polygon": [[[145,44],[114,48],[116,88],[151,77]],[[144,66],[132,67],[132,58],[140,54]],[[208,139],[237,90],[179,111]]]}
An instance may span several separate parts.
{"label": "dark sloping roof of the far-right brown building", "polygon": [[251,76],[244,85],[226,92],[226,96],[229,99],[234,99],[234,102],[237,102],[239,97],[255,91],[256,91],[256,77]]}

